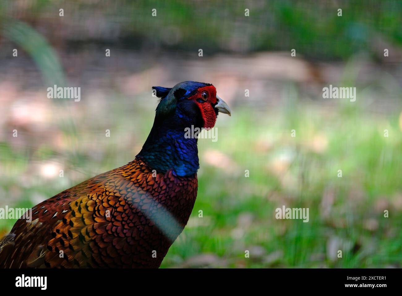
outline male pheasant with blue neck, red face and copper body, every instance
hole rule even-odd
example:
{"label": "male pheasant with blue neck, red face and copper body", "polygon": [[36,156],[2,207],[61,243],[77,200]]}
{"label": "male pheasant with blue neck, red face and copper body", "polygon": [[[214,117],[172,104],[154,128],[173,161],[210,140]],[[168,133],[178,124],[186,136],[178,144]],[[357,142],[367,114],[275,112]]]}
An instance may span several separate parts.
{"label": "male pheasant with blue neck, red face and copper body", "polygon": [[158,268],[183,231],[197,197],[197,137],[231,115],[208,83],[152,87],[160,101],[142,150],[39,203],[0,242],[0,267]]}

